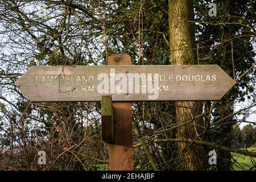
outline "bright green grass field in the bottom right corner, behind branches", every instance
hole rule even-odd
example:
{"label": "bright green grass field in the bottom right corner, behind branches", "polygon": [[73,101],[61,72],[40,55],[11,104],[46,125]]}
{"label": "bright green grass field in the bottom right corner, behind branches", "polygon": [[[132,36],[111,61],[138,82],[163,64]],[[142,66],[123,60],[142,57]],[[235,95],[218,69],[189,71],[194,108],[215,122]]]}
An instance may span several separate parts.
{"label": "bright green grass field in the bottom right corner, behind branches", "polygon": [[[247,148],[250,152],[256,152],[255,148]],[[235,171],[248,171],[248,170],[256,170],[256,158],[250,158],[249,156],[245,156],[242,154],[233,153],[233,168]]]}

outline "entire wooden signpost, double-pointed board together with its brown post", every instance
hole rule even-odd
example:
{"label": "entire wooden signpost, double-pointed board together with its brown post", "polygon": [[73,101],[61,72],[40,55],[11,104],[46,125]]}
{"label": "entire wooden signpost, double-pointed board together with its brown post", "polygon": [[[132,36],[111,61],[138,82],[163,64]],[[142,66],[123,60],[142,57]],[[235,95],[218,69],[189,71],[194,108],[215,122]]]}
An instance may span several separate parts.
{"label": "entire wooden signpost, double-pointed board together with its brown post", "polygon": [[31,67],[15,82],[32,102],[102,101],[110,170],[133,170],[131,101],[220,100],[234,84],[218,65],[135,66],[126,54],[106,66]]}

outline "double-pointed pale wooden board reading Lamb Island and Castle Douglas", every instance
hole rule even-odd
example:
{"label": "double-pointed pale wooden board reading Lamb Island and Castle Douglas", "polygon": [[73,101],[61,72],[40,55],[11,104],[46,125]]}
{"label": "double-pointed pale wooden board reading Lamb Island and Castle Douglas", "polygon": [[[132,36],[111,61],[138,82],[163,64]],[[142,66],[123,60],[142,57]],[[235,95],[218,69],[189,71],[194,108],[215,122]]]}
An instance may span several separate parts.
{"label": "double-pointed pale wooden board reading Lamb Island and Castle Douglas", "polygon": [[[101,82],[97,80],[98,75],[106,73],[109,76],[110,69],[114,69],[115,75],[124,73],[127,76],[127,93],[110,93],[110,88],[109,93],[98,92]],[[153,78],[158,74],[159,96],[155,101],[220,100],[236,83],[218,65],[107,65],[31,67],[15,85],[32,102],[101,101],[102,95],[110,94],[113,101],[150,100],[148,96],[152,93],[142,93],[142,85],[136,87],[134,84],[135,78],[132,82],[134,90],[129,92],[129,73],[145,74],[144,79],[150,78],[150,74]],[[185,78],[190,81],[184,81]],[[118,82],[115,80],[115,84]]]}

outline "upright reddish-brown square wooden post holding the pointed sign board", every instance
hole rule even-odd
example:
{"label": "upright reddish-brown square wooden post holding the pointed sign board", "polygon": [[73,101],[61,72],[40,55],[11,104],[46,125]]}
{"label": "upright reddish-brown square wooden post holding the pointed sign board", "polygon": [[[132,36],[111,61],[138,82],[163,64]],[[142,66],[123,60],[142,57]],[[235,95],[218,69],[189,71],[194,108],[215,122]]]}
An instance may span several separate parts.
{"label": "upright reddish-brown square wooden post holding the pointed sign board", "polygon": [[[108,57],[108,65],[131,65],[131,57],[115,53]],[[113,102],[114,142],[109,144],[109,170],[133,170],[133,134],[131,102]]]}

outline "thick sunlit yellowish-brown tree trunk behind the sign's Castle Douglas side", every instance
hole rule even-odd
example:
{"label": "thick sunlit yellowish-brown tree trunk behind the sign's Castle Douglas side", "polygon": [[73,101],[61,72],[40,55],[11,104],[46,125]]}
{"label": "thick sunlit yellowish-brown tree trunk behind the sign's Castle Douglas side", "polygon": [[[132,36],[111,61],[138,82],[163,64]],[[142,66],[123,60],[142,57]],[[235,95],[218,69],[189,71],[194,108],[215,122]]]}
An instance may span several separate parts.
{"label": "thick sunlit yellowish-brown tree trunk behind the sign's Castle Douglas side", "polygon": [[[195,23],[193,3],[189,0],[169,0],[169,35],[170,35],[170,58],[171,64],[195,64],[197,60],[195,44]],[[200,102],[175,102],[177,123],[191,120],[202,110]],[[193,121],[188,125],[177,129],[177,138],[200,139],[201,125],[203,120]],[[204,169],[205,152],[196,144],[177,143],[180,157],[179,169],[202,170]]]}

